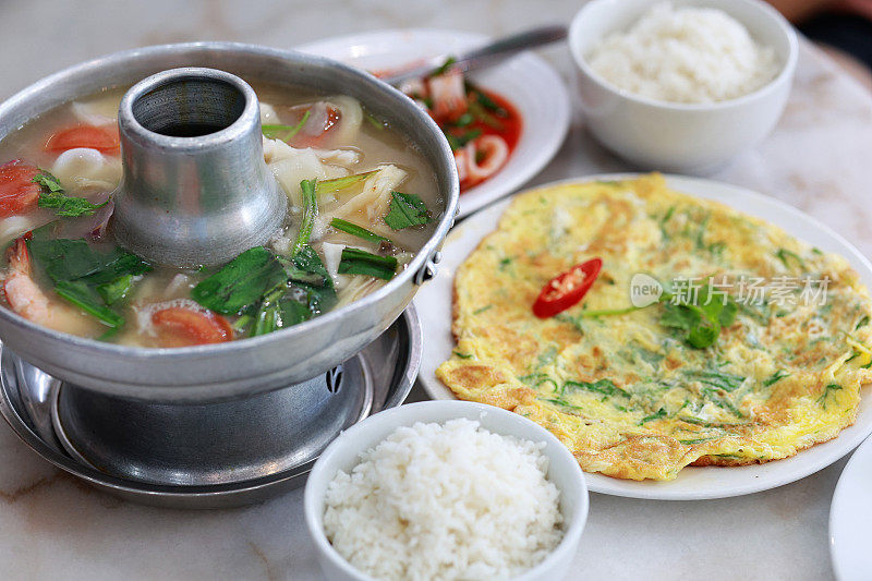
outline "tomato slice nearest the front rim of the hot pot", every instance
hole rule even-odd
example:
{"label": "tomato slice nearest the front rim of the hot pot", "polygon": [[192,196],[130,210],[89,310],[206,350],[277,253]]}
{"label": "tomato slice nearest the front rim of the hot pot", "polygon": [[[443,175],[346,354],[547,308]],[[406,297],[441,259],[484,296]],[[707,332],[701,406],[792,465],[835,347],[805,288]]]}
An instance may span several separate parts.
{"label": "tomato slice nearest the front rim of the hot pot", "polygon": [[152,315],[164,347],[189,347],[233,340],[233,328],[221,315],[169,306]]}

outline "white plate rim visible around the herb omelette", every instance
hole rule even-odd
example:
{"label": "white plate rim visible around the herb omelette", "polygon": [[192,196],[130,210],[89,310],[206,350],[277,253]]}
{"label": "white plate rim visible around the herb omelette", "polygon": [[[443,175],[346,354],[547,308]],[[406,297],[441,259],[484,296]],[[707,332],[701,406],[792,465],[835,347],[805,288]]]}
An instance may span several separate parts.
{"label": "white plate rim visible around the herb omelette", "polygon": [[[592,175],[569,182],[592,180],[620,180],[634,174]],[[775,198],[736,185],[697,178],[667,175],[670,187],[702,198],[727,204],[740,211],[756,216],[782,227],[788,233],[824,251],[845,256],[857,269],[867,287],[872,288],[872,265],[850,243],[826,226],[797,208]],[[565,182],[564,182],[565,183]],[[554,185],[554,184],[549,184]],[[542,187],[547,187],[542,186]],[[451,354],[455,340],[451,336],[451,300],[453,276],[457,267],[496,227],[502,211],[511,201],[506,199],[476,214],[449,232],[443,249],[443,262],[436,277],[417,291],[415,307],[421,315],[424,331],[420,379],[434,399],[456,399],[453,394],[436,378],[435,371]],[[629,481],[586,474],[588,485],[596,493],[652,498],[661,500],[699,500],[725,498],[766,491],[797,481],[832,464],[872,433],[872,398],[860,401],[857,422],[829,441],[818,444],[791,458],[736,468],[688,467],[670,482]]]}

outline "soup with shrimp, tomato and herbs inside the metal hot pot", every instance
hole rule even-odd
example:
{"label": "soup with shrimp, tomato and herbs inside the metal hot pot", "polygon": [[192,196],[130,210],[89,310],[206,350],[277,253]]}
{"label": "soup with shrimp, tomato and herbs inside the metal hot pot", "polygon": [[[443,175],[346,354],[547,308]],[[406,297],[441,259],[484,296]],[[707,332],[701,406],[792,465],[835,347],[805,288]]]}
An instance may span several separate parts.
{"label": "soup with shrimp, tomato and herbs inside the metal hot pot", "polygon": [[347,96],[261,86],[282,228],[229,264],[148,264],[112,235],[123,90],[64,105],[0,142],[2,303],[55,330],[143,347],[264,335],[387,283],[435,228],[433,171]]}

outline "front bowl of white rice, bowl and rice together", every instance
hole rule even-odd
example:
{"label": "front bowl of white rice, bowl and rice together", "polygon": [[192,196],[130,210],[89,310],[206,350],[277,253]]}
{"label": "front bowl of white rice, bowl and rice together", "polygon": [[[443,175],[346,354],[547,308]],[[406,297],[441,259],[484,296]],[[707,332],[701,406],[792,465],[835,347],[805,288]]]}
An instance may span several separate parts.
{"label": "front bowl of white rice, bowl and rice together", "polygon": [[559,580],[588,517],[578,462],[500,408],[425,401],[343,432],[306,482],[306,526],[334,580]]}

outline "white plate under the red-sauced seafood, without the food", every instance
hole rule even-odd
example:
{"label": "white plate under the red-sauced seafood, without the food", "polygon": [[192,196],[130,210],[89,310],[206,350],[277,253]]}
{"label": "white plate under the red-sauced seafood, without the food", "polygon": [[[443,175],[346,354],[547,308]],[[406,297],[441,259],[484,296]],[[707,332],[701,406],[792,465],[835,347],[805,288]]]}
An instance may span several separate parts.
{"label": "white plate under the red-sauced seafood, without the food", "polygon": [[[395,69],[439,55],[458,55],[488,41],[485,35],[429,28],[391,29],[339,36],[295,47],[367,71]],[[506,166],[460,196],[460,217],[509,194],[544,168],[569,128],[569,95],[560,76],[532,52],[472,74],[476,83],[514,105],[523,129]]]}

